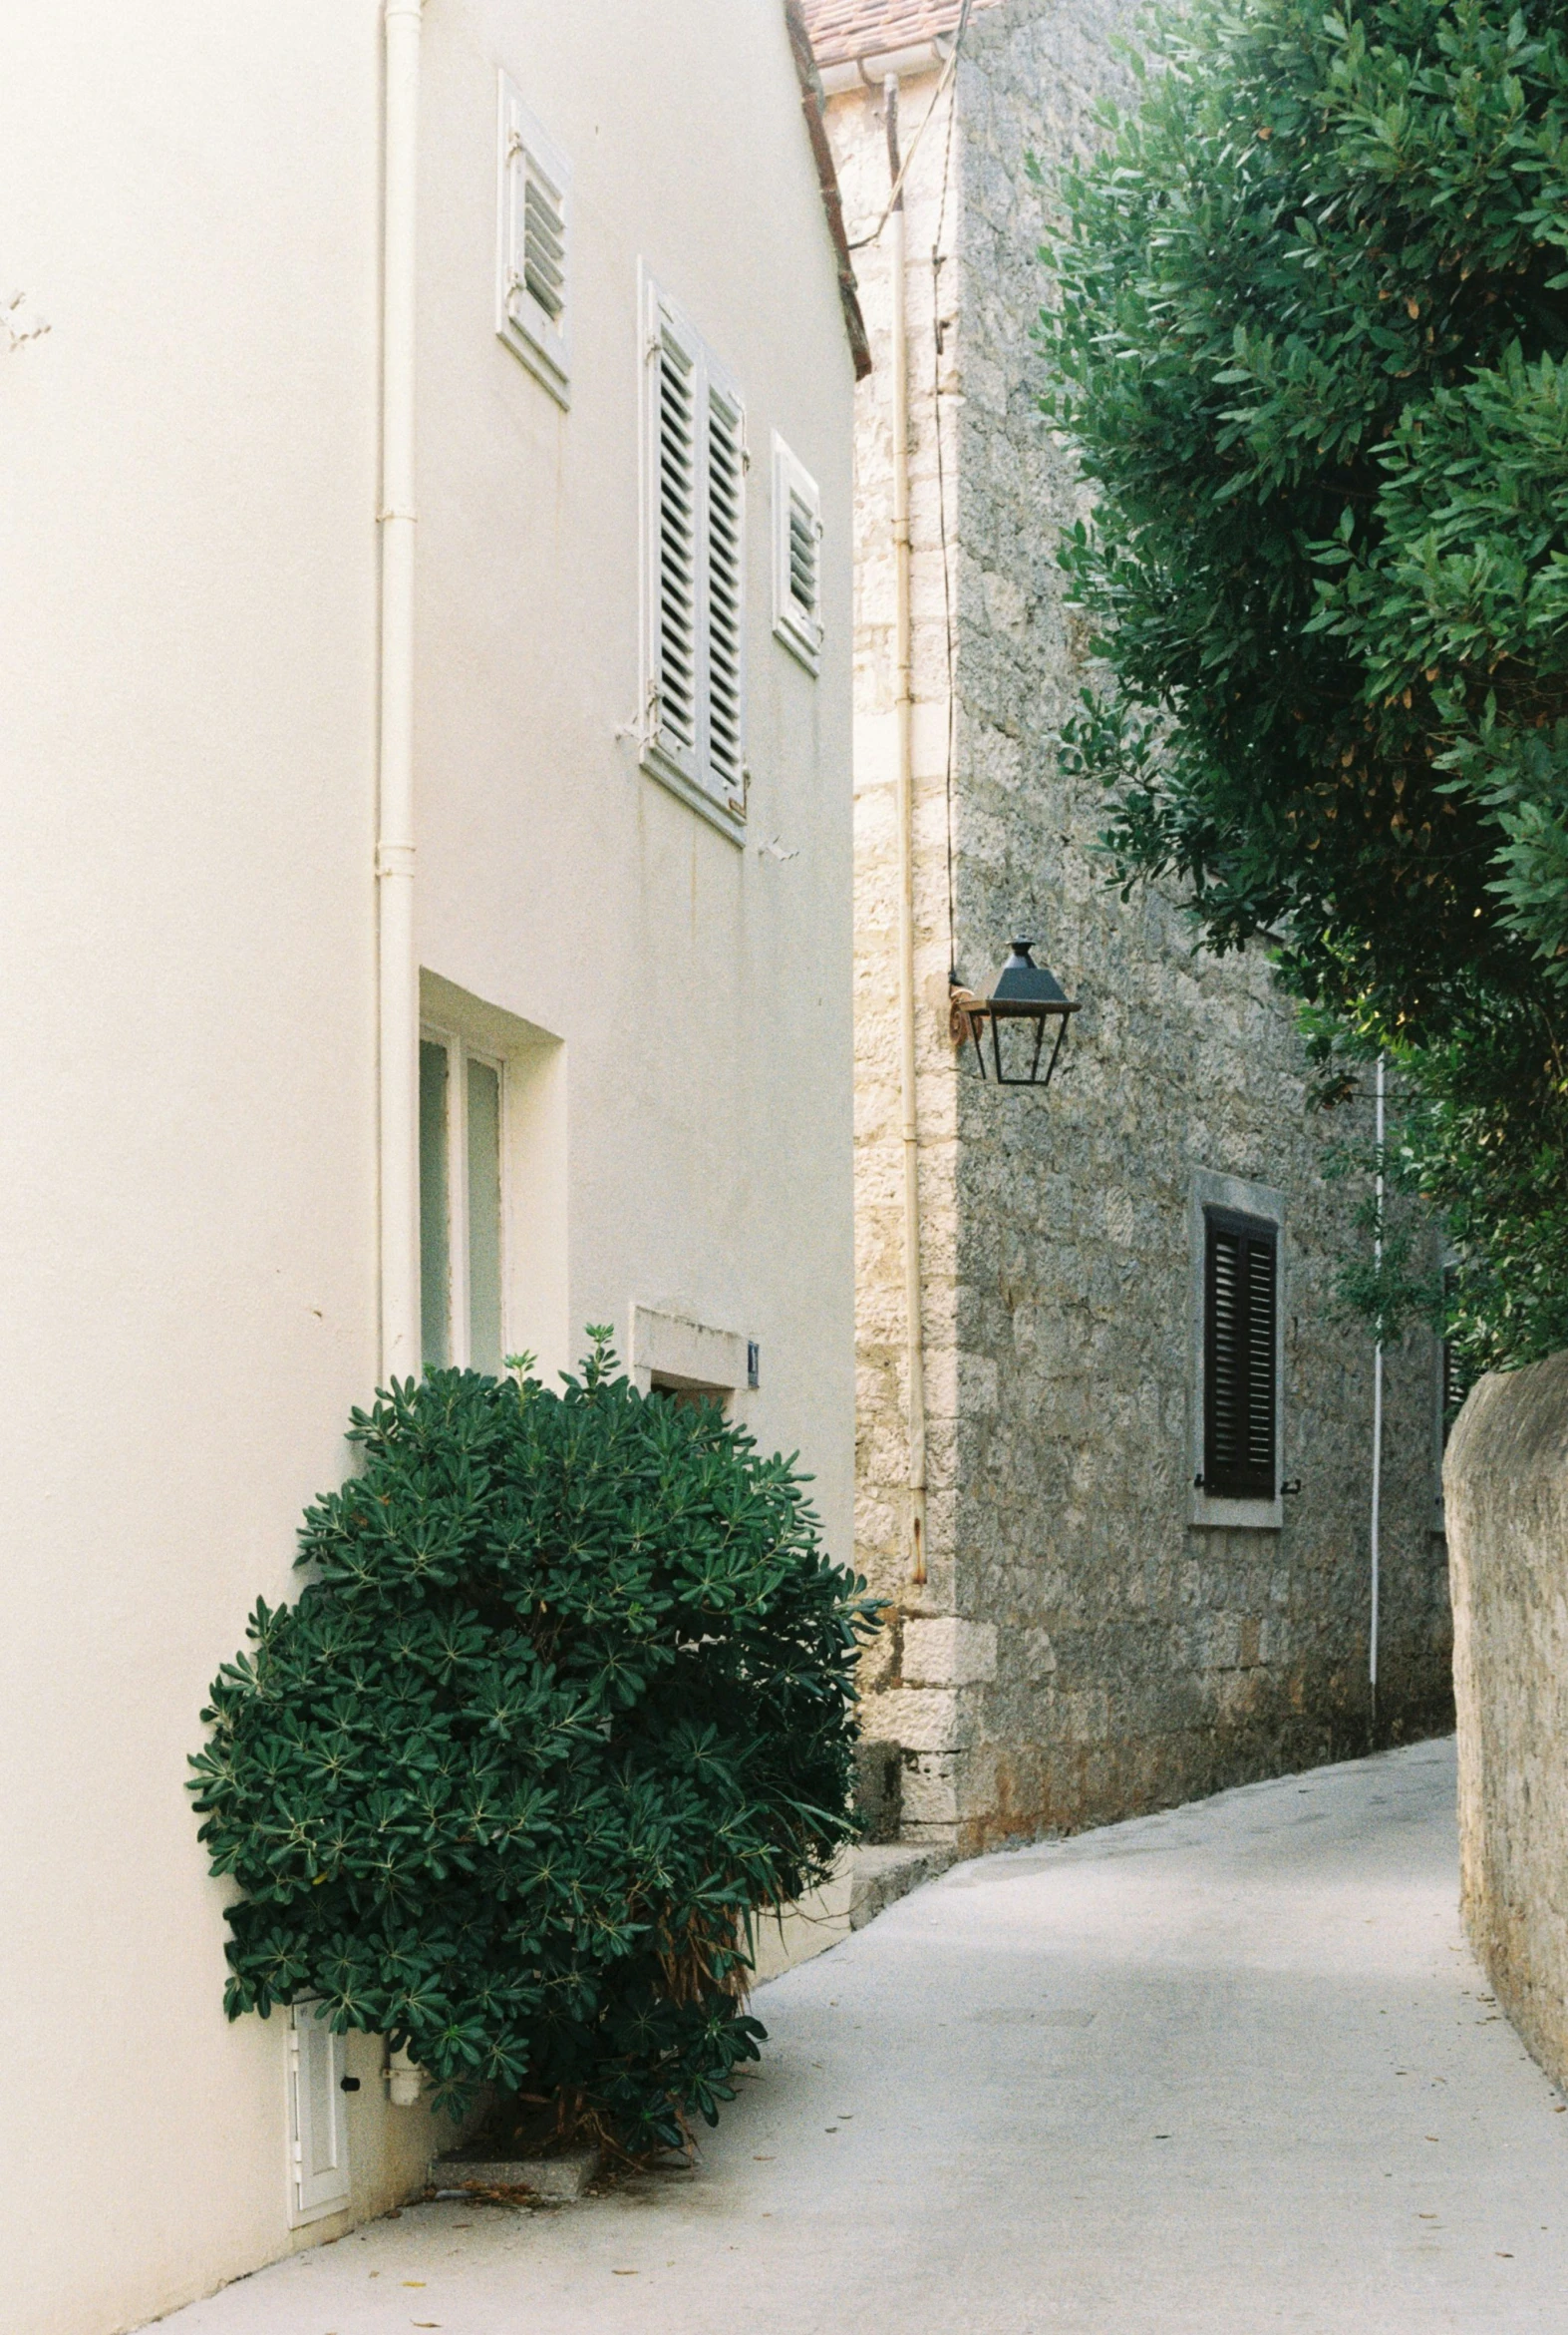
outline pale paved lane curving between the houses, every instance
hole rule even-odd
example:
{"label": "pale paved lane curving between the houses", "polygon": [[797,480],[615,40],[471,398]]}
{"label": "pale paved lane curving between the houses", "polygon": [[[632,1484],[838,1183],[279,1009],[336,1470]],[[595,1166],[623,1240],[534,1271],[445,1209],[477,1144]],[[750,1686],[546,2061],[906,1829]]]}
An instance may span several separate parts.
{"label": "pale paved lane curving between the houses", "polygon": [[170,2335],[1568,2330],[1568,2113],[1454,1912],[1454,1747],[954,1868],[765,1987],[695,2174],[404,2211]]}

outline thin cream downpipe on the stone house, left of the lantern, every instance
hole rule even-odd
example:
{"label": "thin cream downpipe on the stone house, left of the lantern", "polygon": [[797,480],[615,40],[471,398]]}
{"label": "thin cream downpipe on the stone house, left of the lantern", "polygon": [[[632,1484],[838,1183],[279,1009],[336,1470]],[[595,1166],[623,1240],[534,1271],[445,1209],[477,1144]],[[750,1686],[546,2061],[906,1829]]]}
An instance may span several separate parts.
{"label": "thin cream downpipe on the stone house, left of the lantern", "polygon": [[[898,75],[882,84],[887,168],[898,184]],[[894,715],[898,733],[898,1107],[903,1121],[903,1312],[910,1436],[910,1581],[926,1578],[926,1352],[919,1301],[919,1109],[915,1090],[915,651],[910,637],[910,327],[903,189],[887,222],[894,437]]]}

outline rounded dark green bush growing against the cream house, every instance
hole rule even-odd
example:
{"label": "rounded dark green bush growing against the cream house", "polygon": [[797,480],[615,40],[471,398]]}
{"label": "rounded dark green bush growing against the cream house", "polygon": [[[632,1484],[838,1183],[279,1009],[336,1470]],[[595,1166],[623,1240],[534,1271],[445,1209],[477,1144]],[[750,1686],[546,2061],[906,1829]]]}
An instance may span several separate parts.
{"label": "rounded dark green bush growing against the cream house", "polygon": [[854,1833],[875,1604],[789,1462],[590,1336],[560,1394],[434,1371],[355,1413],[191,1791],[243,1891],[229,2017],[320,1996],[453,2113],[492,2085],[637,2151],[733,2097],[751,1924]]}

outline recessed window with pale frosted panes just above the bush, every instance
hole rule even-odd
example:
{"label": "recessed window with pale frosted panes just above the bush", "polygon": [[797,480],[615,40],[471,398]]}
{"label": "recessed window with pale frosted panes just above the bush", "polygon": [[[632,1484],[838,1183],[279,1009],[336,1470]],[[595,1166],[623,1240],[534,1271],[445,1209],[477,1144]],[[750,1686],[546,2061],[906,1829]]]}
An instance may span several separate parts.
{"label": "recessed window with pale frosted panes just above the bush", "polygon": [[460,1037],[420,1039],[420,1315],[427,1371],[502,1368],[504,1072]]}

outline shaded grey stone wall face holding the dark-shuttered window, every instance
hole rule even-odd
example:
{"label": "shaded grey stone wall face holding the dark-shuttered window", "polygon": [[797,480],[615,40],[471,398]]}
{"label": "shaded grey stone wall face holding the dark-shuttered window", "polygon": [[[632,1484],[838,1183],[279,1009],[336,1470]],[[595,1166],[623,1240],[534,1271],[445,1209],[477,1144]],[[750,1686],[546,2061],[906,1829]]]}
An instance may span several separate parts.
{"label": "shaded grey stone wall face holding the dark-shuttered window", "polygon": [[[1085,1002],[1048,1095],[959,1079],[959,1611],[996,1625],[968,1747],[978,1845],[1449,1714],[1423,1333],[1386,1357],[1377,1719],[1367,1693],[1372,1347],[1332,1301],[1365,1186],[1332,1182],[1325,1153],[1370,1137],[1372,1100],[1311,1107],[1262,946],[1213,957],[1171,892],[1120,897],[1106,806],[1055,747],[1092,679],[1057,565],[1087,497],[1029,327],[1050,170],[1099,135],[1127,33],[1125,0],[1006,0],[959,70],[959,967],[982,985],[1031,932]],[[1220,1184],[1281,1203],[1281,1476],[1300,1492],[1279,1529],[1195,1499],[1197,1203]]]}

